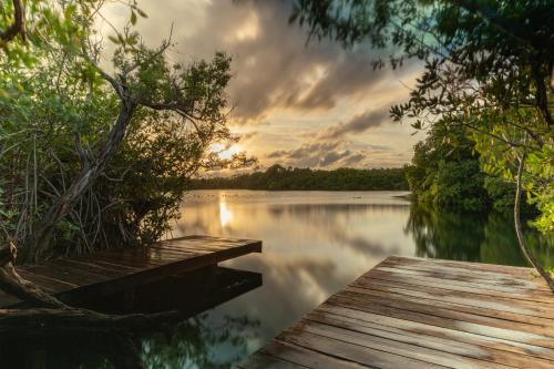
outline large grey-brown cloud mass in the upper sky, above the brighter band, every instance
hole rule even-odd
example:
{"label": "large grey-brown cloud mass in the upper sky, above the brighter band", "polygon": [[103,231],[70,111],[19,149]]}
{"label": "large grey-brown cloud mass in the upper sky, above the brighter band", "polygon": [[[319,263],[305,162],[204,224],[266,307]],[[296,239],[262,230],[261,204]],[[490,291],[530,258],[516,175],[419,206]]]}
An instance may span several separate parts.
{"label": "large grey-brown cloud mass in the upper sky, above the brighter band", "polygon": [[142,33],[151,43],[167,37],[168,21],[174,21],[178,52],[174,58],[230,53],[229,95],[243,122],[264,119],[276,109],[329,110],[341,99],[363,95],[391,74],[369,66],[377,52],[347,51],[328,40],[306,44],[306,30],[288,23],[290,1],[167,0],[163,7],[153,4],[141,2],[148,13]]}

